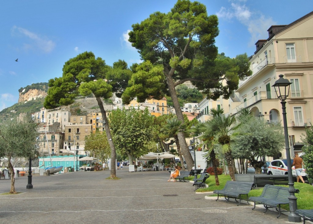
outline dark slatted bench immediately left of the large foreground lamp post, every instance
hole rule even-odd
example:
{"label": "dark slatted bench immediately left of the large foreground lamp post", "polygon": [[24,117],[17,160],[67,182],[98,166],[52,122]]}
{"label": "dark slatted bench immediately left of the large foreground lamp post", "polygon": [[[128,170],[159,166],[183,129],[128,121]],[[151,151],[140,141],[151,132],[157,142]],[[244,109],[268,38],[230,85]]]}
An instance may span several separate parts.
{"label": "dark slatted bench immediately left of the large foreground lamp post", "polygon": [[275,208],[279,212],[279,216],[277,216],[279,218],[281,215],[280,205],[289,204],[289,196],[288,187],[267,184],[264,186],[261,196],[250,197],[249,201],[254,202],[252,210],[255,209],[256,204],[264,205],[265,212],[267,212],[268,208]]}

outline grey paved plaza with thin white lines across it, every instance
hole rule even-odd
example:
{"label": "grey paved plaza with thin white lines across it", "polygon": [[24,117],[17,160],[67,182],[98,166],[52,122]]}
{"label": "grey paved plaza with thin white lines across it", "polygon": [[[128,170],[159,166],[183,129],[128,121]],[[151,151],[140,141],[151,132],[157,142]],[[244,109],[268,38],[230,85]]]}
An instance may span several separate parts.
{"label": "grey paved plaza with thin white lines across it", "polygon": [[[120,180],[105,179],[109,170],[33,176],[33,189],[26,189],[27,176],[19,177],[22,193],[0,195],[0,223],[290,223],[264,208],[205,199],[208,193],[196,194],[190,182],[167,182],[167,171],[126,166],[116,174]],[[0,193],[9,189],[10,180],[1,179]]]}

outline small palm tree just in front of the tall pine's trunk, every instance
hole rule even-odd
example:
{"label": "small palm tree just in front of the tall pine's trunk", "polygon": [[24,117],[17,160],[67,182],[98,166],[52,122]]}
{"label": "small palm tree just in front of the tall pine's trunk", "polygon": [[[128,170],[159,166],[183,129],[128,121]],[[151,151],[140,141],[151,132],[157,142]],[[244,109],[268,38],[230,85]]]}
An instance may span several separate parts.
{"label": "small palm tree just in front of the tall pine's trunk", "polygon": [[[169,137],[174,138],[174,140],[176,142],[176,146],[177,146],[178,156],[179,156],[181,162],[183,162],[184,160],[182,158],[182,151],[180,149],[180,144],[178,141],[178,135],[177,134],[178,134],[178,132],[184,132],[186,130],[186,127],[187,127],[186,123],[182,123],[175,116],[175,117],[167,119],[166,124],[161,129],[161,131],[164,134],[168,135]],[[184,166],[182,166],[182,170],[185,170]]]}

